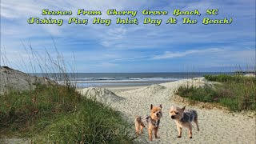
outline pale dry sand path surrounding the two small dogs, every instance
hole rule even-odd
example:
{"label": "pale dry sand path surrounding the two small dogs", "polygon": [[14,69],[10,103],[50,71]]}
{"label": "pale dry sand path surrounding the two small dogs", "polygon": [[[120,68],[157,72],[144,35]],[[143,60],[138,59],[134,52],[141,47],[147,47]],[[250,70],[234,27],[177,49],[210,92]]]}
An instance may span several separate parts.
{"label": "pale dry sand path surrounding the two small dogs", "polygon": [[[124,88],[114,91],[111,95],[111,106],[131,122],[135,115],[150,113],[150,104],[162,104],[163,117],[161,119],[158,136],[153,142],[148,141],[147,130],[137,138],[140,143],[256,143],[256,121],[255,117],[245,114],[227,113],[223,110],[206,110],[199,107],[186,106],[188,109],[198,111],[198,123],[200,131],[193,124],[193,138],[188,138],[188,130],[182,130],[182,138],[177,138],[178,132],[175,122],[170,119],[168,111],[170,106],[182,106],[181,102],[174,102],[174,90],[181,85],[203,86],[212,83],[206,82],[204,78],[193,78],[177,82],[166,82],[159,85]],[[117,96],[118,100],[113,101]],[[105,97],[107,98],[107,97]],[[120,98],[122,100],[120,101]]]}

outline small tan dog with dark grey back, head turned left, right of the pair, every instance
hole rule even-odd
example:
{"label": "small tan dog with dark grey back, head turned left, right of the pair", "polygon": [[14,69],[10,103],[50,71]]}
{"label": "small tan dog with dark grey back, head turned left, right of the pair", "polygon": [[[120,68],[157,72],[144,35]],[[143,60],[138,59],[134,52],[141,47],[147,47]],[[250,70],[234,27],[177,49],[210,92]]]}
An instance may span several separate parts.
{"label": "small tan dog with dark grey back, head turned left, right of the pair", "polygon": [[196,110],[185,110],[185,106],[180,109],[175,106],[170,108],[170,118],[174,119],[178,129],[178,138],[182,137],[182,127],[189,129],[189,137],[192,138],[192,122],[198,128],[198,113]]}

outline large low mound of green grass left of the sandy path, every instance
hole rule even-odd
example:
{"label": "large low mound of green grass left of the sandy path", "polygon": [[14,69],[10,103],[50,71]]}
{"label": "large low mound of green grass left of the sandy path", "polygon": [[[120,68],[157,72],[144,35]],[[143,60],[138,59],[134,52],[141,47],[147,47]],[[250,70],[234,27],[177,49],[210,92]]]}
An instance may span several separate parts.
{"label": "large low mound of green grass left of the sandy path", "polygon": [[132,143],[118,112],[59,85],[2,95],[0,128],[36,143]]}

